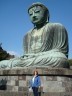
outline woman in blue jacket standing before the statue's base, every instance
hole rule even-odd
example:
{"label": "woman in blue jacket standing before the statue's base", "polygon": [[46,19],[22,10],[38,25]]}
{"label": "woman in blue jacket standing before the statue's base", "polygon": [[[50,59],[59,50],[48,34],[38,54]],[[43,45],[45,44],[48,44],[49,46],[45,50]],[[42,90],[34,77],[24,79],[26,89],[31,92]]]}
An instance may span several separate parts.
{"label": "woman in blue jacket standing before the statue's base", "polygon": [[38,71],[35,70],[33,73],[33,78],[30,81],[30,87],[32,87],[34,96],[38,96],[38,88],[41,86],[40,76],[38,75]]}

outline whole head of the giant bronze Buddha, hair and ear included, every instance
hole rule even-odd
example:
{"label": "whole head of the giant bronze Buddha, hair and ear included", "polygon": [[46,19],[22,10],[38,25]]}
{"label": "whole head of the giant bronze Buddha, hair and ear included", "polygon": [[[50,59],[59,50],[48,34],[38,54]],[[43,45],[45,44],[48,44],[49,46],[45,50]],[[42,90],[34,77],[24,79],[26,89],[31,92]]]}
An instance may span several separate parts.
{"label": "whole head of the giant bronze Buddha, hair and ear included", "polygon": [[28,13],[31,22],[35,25],[49,21],[49,10],[41,3],[32,4],[28,9]]}

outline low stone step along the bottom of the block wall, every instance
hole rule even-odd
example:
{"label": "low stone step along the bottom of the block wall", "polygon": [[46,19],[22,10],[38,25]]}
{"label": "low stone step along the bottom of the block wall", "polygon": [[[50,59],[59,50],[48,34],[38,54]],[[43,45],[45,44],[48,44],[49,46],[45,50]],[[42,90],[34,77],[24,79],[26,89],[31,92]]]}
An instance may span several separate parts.
{"label": "low stone step along the bottom of the block wall", "polygon": [[[0,96],[33,96],[33,93],[0,91]],[[72,96],[72,92],[42,92],[39,96]]]}

